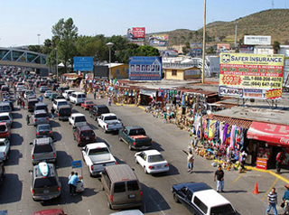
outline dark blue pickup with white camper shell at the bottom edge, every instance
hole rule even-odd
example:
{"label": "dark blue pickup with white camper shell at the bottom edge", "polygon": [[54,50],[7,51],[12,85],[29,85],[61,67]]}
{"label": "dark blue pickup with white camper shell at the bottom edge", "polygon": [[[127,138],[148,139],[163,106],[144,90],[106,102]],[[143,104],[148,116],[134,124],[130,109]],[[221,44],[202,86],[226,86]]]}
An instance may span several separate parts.
{"label": "dark blue pickup with white camper shell at the bottom edge", "polygon": [[185,182],[172,185],[172,197],[192,214],[236,215],[232,204],[204,182]]}

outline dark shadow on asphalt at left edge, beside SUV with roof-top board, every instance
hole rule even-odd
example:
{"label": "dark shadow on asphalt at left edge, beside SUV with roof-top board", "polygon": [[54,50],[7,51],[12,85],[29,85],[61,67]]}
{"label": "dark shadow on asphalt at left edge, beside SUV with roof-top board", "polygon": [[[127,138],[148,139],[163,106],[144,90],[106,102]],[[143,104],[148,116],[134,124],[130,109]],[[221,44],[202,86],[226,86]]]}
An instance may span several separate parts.
{"label": "dark shadow on asphalt at left edge, beside SUV with roof-top board", "polygon": [[23,182],[19,181],[18,175],[7,173],[0,188],[0,203],[21,201],[22,189]]}

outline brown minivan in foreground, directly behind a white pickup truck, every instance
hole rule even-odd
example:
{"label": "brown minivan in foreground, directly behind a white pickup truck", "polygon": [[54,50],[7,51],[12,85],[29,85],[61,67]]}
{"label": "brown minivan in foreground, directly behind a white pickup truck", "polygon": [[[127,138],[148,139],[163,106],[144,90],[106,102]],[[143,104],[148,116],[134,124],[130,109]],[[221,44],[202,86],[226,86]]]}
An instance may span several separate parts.
{"label": "brown minivan in foreground, directly behind a white pickup truck", "polygon": [[101,173],[101,182],[109,209],[126,209],[142,205],[142,187],[129,165],[107,166]]}

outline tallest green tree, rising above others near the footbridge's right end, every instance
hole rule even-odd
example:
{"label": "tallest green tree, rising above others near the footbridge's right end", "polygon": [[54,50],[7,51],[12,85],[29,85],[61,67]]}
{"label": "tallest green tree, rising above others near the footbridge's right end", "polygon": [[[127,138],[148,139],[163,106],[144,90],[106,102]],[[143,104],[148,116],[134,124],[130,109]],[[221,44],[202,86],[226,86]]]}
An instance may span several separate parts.
{"label": "tallest green tree, rising above others near the footbridge's right end", "polygon": [[77,53],[76,41],[79,29],[73,23],[72,18],[64,21],[62,18],[52,26],[52,34],[56,42],[58,54],[63,61],[64,71],[67,72],[68,63],[72,64],[73,57]]}

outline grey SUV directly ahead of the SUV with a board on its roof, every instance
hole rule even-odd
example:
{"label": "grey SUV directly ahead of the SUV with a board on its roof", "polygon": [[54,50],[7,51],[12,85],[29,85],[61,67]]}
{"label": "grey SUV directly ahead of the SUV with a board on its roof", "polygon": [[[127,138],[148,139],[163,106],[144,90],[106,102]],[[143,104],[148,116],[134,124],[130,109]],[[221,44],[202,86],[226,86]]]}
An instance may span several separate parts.
{"label": "grey SUV directly ahead of the SUV with a board on its roof", "polygon": [[31,151],[31,159],[33,164],[38,164],[42,161],[55,163],[56,162],[56,151],[53,146],[51,137],[42,137],[34,139],[34,143]]}

